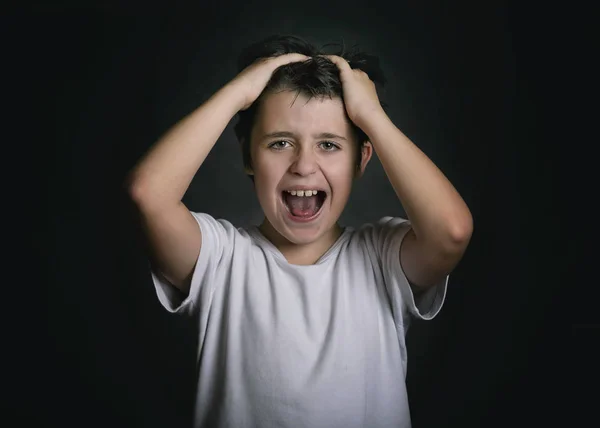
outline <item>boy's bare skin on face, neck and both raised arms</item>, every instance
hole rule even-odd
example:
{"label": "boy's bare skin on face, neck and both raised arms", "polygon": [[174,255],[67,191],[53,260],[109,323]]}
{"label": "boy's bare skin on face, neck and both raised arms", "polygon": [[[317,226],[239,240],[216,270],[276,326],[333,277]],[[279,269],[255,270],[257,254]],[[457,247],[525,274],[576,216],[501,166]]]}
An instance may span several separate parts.
{"label": "boy's bare skin on face, neck and both raised arms", "polygon": [[[336,222],[356,173],[356,153],[350,153],[351,147],[324,153],[314,135],[332,132],[350,140],[350,120],[371,143],[364,146],[358,175],[376,151],[412,226],[398,254],[400,263],[413,289],[425,290],[439,283],[462,258],[473,231],[471,213],[443,173],[383,111],[369,76],[351,69],[343,58],[327,57],[340,72],[345,114],[340,100],[297,101],[290,107],[289,98],[281,94],[266,100],[252,136],[257,140],[252,142],[252,172],[265,211],[263,233],[290,263],[297,264],[314,263],[335,242],[340,233]],[[201,231],[182,202],[192,178],[232,117],[252,105],[273,72],[306,60],[310,58],[287,54],[250,65],[169,130],[131,171],[127,186],[139,208],[151,259],[182,292],[189,291],[202,245]],[[285,150],[274,152],[260,138],[261,133],[282,130],[275,125],[293,135],[286,138],[289,147],[283,144]],[[356,147],[354,142],[350,146]],[[281,190],[299,183],[329,192],[326,215],[314,225],[290,225],[277,205]]]}

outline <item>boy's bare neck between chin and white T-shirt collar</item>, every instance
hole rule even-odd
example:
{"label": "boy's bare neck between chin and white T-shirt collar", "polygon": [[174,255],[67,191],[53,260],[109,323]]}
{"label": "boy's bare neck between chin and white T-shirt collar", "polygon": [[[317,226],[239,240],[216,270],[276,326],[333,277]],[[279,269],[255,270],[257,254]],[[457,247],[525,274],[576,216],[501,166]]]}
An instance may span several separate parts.
{"label": "boy's bare neck between chin and white T-shirt collar", "polygon": [[319,239],[307,244],[295,244],[283,237],[265,218],[259,227],[261,233],[283,254],[290,264],[312,265],[335,244],[342,234],[342,227],[335,224]]}

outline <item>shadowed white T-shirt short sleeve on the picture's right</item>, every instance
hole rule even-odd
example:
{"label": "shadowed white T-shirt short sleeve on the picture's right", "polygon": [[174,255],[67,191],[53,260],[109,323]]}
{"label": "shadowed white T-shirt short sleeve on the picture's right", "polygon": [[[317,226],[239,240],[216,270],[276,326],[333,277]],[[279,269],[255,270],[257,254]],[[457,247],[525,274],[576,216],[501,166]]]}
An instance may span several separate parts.
{"label": "shadowed white T-shirt short sleeve on the picture's right", "polygon": [[384,281],[396,322],[402,321],[403,326],[409,325],[411,316],[431,320],[439,313],[446,297],[449,278],[446,276],[418,297],[415,296],[400,263],[400,247],[410,228],[410,221],[399,217],[384,217],[376,227],[376,246],[380,251]]}

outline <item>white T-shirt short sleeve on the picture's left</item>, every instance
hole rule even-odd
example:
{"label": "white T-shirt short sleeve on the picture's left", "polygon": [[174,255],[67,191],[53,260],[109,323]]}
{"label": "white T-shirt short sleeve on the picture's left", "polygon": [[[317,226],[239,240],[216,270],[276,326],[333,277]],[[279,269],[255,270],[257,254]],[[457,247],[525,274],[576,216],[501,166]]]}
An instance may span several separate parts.
{"label": "white T-shirt short sleeve on the picture's left", "polygon": [[216,272],[231,259],[232,242],[237,232],[225,221],[216,220],[208,214],[192,215],[202,233],[202,246],[192,273],[190,291],[187,296],[169,283],[160,272],[150,267],[152,282],[158,300],[169,312],[191,315],[210,306],[212,295],[218,283]]}

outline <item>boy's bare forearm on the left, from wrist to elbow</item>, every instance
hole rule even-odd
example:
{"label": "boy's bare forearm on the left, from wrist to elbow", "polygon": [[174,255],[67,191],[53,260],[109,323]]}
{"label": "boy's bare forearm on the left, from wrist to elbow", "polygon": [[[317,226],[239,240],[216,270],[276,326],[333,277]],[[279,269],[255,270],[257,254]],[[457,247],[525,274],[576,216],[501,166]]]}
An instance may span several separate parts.
{"label": "boy's bare forearm on the left, from wrist to elbow", "polygon": [[128,177],[136,203],[150,209],[179,203],[241,102],[228,84],[156,142]]}

